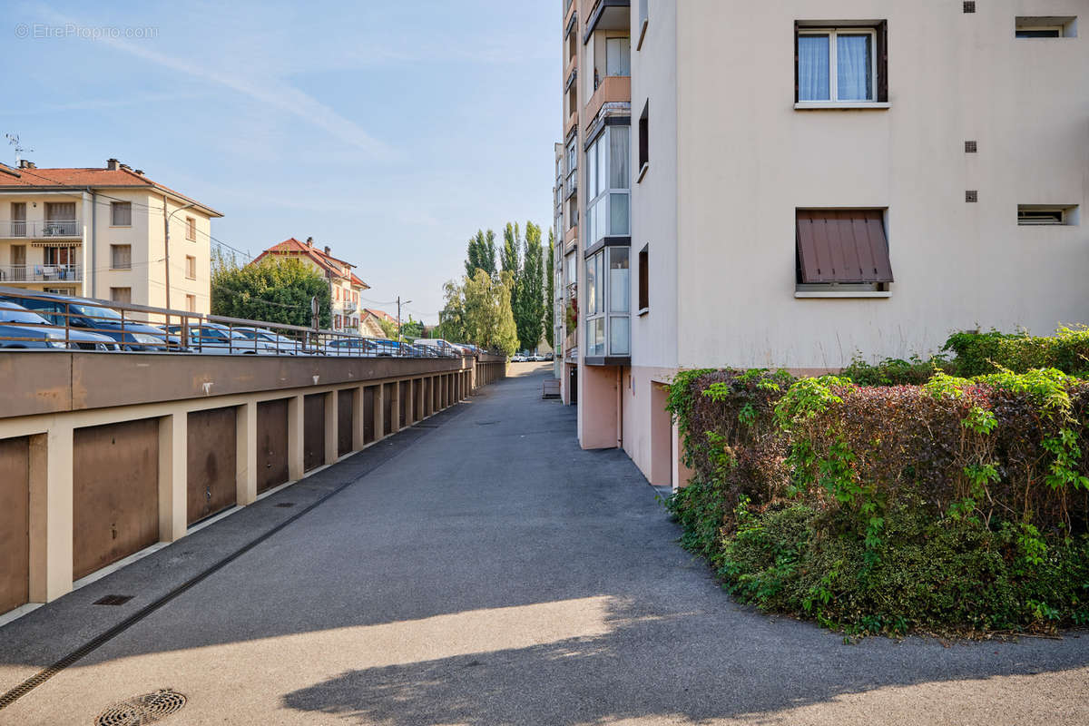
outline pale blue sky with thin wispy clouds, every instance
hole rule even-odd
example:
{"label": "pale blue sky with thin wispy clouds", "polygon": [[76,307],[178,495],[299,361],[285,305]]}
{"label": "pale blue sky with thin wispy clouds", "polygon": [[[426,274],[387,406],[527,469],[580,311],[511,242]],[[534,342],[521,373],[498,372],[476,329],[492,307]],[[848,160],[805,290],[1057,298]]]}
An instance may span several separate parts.
{"label": "pale blue sky with thin wispy clouds", "polygon": [[367,307],[400,295],[436,322],[478,229],[552,223],[559,0],[0,9],[0,132],[23,158],[115,157],[254,255],[314,237],[357,264]]}

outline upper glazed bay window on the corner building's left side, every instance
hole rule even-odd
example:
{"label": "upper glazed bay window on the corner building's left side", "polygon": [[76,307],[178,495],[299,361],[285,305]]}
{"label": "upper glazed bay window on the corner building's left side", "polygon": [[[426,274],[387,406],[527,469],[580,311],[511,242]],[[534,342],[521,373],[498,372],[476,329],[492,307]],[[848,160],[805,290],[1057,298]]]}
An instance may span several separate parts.
{"label": "upper glazed bay window on the corner building's left side", "polygon": [[586,245],[631,230],[629,126],[607,126],[586,151]]}

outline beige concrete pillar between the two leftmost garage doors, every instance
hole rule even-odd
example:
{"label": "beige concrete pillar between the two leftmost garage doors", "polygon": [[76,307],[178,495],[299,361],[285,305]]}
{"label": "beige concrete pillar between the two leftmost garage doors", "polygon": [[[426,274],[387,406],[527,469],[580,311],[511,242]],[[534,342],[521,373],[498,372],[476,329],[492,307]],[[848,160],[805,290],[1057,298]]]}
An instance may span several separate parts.
{"label": "beige concrete pillar between the two leftmost garage doors", "polygon": [[72,427],[30,436],[30,602],[72,591]]}

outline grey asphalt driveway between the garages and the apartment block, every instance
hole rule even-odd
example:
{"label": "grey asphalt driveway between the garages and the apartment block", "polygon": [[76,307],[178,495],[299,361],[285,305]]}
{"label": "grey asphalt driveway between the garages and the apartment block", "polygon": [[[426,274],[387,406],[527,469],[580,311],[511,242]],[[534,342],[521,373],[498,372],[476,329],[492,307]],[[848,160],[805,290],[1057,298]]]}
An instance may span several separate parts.
{"label": "grey asphalt driveway between the garages and the apartment block", "polygon": [[[578,448],[548,368],[284,490],[355,480],[0,723],[91,724],[159,688],[187,697],[180,725],[1089,723],[1089,633],[846,644],[734,604],[634,465]],[[290,513],[261,504],[0,629],[0,682],[105,624],[88,598]]]}

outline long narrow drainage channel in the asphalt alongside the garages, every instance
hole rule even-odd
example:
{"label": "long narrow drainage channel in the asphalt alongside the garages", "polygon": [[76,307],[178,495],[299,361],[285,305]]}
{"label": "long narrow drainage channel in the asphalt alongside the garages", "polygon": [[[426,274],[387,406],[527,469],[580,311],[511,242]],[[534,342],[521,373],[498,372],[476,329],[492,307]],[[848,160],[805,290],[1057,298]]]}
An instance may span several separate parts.
{"label": "long narrow drainage channel in the asphalt alongside the garages", "polygon": [[[460,407],[455,407],[454,409],[448,409],[448,410],[450,411],[451,415],[453,415],[456,411],[457,408],[460,408]],[[413,428],[425,428],[425,427],[413,427]],[[407,431],[412,431],[413,428],[403,429],[399,433],[405,433]],[[438,427],[435,427],[435,428],[438,428]],[[389,462],[389,460],[393,459],[394,457],[396,457],[399,454],[401,454],[406,448],[408,448],[409,446],[412,446],[414,443],[416,443],[424,435],[426,435],[426,433],[420,432],[420,435],[412,439],[411,441],[405,441],[404,445],[397,447],[395,451],[392,451],[392,452],[391,451],[387,451],[387,453],[389,454],[388,456],[378,458],[375,462],[370,462],[371,466],[366,467],[363,471],[360,471],[353,479],[344,482],[343,484],[340,484],[335,489],[333,489],[333,490],[327,492],[326,494],[321,495],[320,497],[318,497],[315,502],[313,502],[308,506],[304,507],[303,509],[299,509],[294,515],[292,515],[287,519],[283,520],[282,522],[280,522],[276,527],[273,527],[272,529],[266,531],[264,534],[257,537],[256,539],[252,540],[247,544],[244,544],[240,549],[237,549],[234,552],[232,552],[231,554],[227,555],[225,557],[223,557],[222,559],[220,559],[219,562],[217,562],[216,564],[213,564],[208,569],[205,569],[204,571],[198,573],[197,575],[193,576],[188,580],[182,582],[181,585],[179,585],[176,588],[174,588],[173,590],[171,590],[167,594],[162,595],[158,600],[155,600],[155,601],[148,603],[143,608],[140,608],[139,611],[133,613],[131,616],[129,616],[127,618],[125,618],[121,623],[117,624],[115,626],[113,626],[109,630],[107,630],[107,631],[100,633],[99,636],[93,638],[91,640],[87,641],[86,643],[84,643],[83,645],[81,645],[76,650],[72,651],[71,653],[69,653],[68,655],[65,655],[64,657],[62,657],[61,660],[57,661],[52,665],[42,668],[38,673],[34,674],[33,676],[30,676],[29,678],[27,678],[26,680],[24,680],[23,682],[21,682],[19,686],[15,686],[14,688],[12,688],[10,691],[8,691],[8,692],[5,692],[3,694],[0,694],[0,711],[3,711],[8,706],[10,706],[12,703],[14,703],[19,699],[23,698],[24,696],[26,696],[27,693],[29,693],[30,691],[33,691],[35,688],[37,688],[38,686],[42,685],[44,682],[46,682],[47,680],[49,680],[50,678],[52,678],[53,676],[56,676],[57,674],[59,674],[64,668],[66,668],[70,665],[74,664],[76,661],[81,660],[85,655],[91,653],[93,651],[101,648],[102,645],[105,645],[109,641],[113,640],[119,635],[121,635],[122,632],[124,632],[129,628],[133,627],[134,625],[136,625],[137,623],[139,623],[140,620],[143,620],[144,618],[146,618],[148,615],[151,615],[157,610],[159,610],[160,607],[162,607],[163,605],[166,605],[170,601],[174,600],[175,598],[178,598],[182,593],[191,590],[192,588],[194,588],[195,586],[199,585],[204,580],[208,579],[209,577],[211,577],[212,575],[215,575],[219,570],[223,569],[224,567],[227,567],[228,565],[230,565],[232,562],[234,562],[235,559],[237,559],[238,557],[241,557],[242,555],[246,554],[247,552],[249,552],[250,550],[253,550],[257,545],[261,544],[262,542],[265,542],[266,540],[268,540],[270,537],[272,537],[277,532],[280,532],[281,530],[285,529],[286,527],[289,527],[290,525],[294,524],[298,519],[305,517],[307,514],[309,514],[310,512],[313,512],[314,509],[316,509],[320,505],[325,504],[326,502],[328,502],[330,499],[332,499],[337,494],[340,494],[345,489],[347,489],[352,484],[356,483],[357,481],[359,481],[360,479],[363,479],[364,477],[366,477],[368,473],[370,473],[371,471],[374,471],[375,469],[377,469],[382,464],[386,464],[387,462]],[[391,442],[391,443],[393,443],[393,442]],[[380,450],[378,450],[378,448],[371,448],[370,451],[380,451]],[[103,603],[103,604],[106,604],[106,603]]]}

